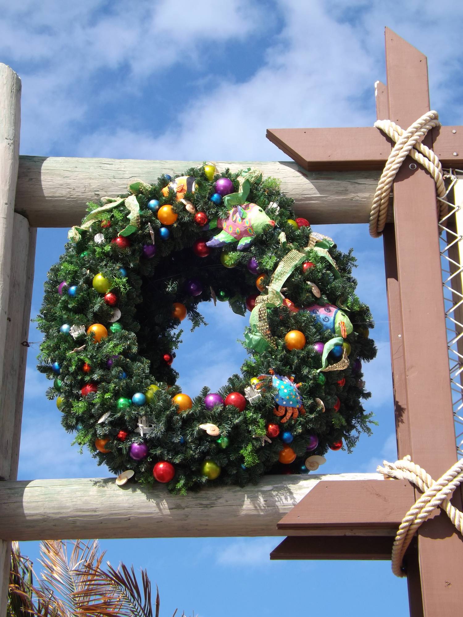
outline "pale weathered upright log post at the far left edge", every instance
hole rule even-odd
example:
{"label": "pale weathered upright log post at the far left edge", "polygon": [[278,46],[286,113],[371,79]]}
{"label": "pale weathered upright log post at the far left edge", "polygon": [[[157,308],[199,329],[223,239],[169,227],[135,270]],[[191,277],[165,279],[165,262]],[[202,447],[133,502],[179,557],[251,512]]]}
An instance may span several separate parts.
{"label": "pale weathered upright log post at the far left edge", "polygon": [[[14,278],[10,276],[10,268],[14,236],[14,201],[19,167],[20,101],[19,77],[10,67],[0,64],[0,392],[2,403],[9,404],[13,413],[16,392],[9,392],[10,400],[6,400],[4,365],[5,360],[9,362],[8,356],[12,351],[7,349],[7,344],[10,344],[8,336],[10,328],[7,326],[10,315],[10,283]],[[19,432],[14,434],[14,416],[6,418],[9,426],[4,425],[2,418],[4,411],[5,408],[0,411],[0,478],[12,478],[12,455],[14,451],[19,450]],[[12,447],[13,441],[17,441],[17,448]],[[0,540],[0,615],[6,612],[10,548],[10,542]]]}

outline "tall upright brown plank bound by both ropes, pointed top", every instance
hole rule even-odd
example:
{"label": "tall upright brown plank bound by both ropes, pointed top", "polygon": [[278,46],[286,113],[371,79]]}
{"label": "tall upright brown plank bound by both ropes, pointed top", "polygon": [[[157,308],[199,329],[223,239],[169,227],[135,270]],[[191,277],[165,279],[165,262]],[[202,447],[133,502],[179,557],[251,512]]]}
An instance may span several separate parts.
{"label": "tall upright brown plank bound by both ropes, pointed top", "polygon": [[[408,126],[429,110],[426,57],[386,28],[386,68],[391,119]],[[407,161],[394,182],[394,223],[409,454],[438,478],[456,461],[456,446],[435,186],[426,172],[411,170]],[[425,340],[432,341],[429,355],[422,346]],[[463,569],[463,544],[445,515],[423,524],[418,549],[423,615],[459,613],[463,586],[457,573]]]}

